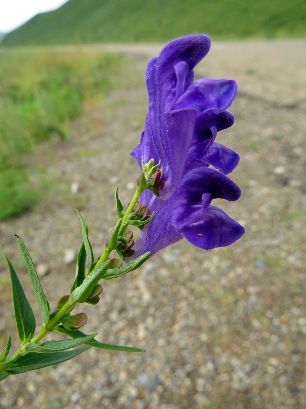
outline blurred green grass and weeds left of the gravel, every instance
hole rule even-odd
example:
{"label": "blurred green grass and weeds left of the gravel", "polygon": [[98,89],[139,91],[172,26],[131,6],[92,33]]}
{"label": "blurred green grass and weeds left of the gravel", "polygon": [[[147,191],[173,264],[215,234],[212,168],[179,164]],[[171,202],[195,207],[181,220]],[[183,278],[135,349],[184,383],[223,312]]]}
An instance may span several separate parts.
{"label": "blurred green grass and weeds left of the gravel", "polygon": [[31,208],[43,192],[24,157],[35,144],[69,138],[82,102],[118,83],[122,57],[51,49],[0,49],[0,218]]}

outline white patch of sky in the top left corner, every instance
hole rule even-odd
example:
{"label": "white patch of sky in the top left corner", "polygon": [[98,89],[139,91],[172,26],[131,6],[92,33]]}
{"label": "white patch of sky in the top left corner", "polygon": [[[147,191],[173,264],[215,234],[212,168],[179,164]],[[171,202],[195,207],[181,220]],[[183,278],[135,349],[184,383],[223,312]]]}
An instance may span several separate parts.
{"label": "white patch of sky in the top left corner", "polygon": [[57,9],[67,0],[0,0],[0,32],[9,32],[35,14]]}

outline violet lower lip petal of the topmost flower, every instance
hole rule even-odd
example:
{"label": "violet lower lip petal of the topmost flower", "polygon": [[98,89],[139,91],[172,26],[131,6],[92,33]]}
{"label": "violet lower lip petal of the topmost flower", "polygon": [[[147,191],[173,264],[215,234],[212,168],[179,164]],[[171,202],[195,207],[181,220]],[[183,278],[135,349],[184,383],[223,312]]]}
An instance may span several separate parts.
{"label": "violet lower lip petal of the topmost flower", "polygon": [[203,78],[195,81],[169,109],[170,113],[192,109],[199,112],[225,111],[237,94],[237,83],[227,79]]}

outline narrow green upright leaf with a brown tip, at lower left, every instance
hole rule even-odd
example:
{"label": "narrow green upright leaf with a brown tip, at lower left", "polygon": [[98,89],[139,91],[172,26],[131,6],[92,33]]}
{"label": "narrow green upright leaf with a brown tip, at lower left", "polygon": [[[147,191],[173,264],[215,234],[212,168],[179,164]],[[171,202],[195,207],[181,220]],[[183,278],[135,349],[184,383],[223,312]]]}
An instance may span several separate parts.
{"label": "narrow green upright leaf with a brown tip, at lower left", "polygon": [[27,247],[25,247],[20,237],[16,235],[16,238],[17,238],[18,245],[21,249],[21,252],[24,256],[24,260],[27,263],[27,269],[30,275],[35,297],[37,299],[40,311],[42,313],[42,319],[44,320],[44,323],[47,324],[49,320],[49,311],[50,311],[49,303],[47,301],[47,298],[44,292],[42,291],[42,286],[40,285],[37,272],[35,270],[31,256],[27,250]]}

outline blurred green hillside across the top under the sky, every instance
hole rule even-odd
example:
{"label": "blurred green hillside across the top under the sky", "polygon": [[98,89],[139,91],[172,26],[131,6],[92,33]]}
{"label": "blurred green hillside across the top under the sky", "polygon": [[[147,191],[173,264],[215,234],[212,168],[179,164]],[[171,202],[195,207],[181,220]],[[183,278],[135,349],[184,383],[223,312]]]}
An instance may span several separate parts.
{"label": "blurred green hillside across the top under the sky", "polygon": [[306,36],[305,0],[69,0],[9,33],[1,45],[163,42]]}

